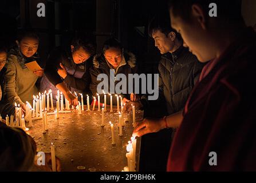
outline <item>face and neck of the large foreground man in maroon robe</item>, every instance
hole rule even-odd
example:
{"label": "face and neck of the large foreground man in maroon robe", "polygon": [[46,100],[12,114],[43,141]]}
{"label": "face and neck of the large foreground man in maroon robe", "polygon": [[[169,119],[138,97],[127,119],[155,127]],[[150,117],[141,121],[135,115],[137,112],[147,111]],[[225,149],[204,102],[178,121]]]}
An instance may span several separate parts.
{"label": "face and neck of the large foreground man in maroon robe", "polygon": [[193,6],[190,22],[175,17],[170,10],[171,26],[182,35],[183,46],[188,47],[200,62],[207,62],[216,56],[214,49],[211,48],[212,40],[206,29],[202,10],[195,10],[198,7],[193,9]]}

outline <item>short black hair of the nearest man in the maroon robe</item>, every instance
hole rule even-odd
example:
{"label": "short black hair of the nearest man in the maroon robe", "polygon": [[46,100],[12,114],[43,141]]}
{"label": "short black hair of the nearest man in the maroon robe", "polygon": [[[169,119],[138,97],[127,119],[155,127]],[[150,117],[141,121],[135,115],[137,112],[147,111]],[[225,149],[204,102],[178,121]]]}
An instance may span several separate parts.
{"label": "short black hair of the nearest man in the maroon robe", "polygon": [[228,19],[230,22],[242,20],[242,0],[169,0],[168,7],[175,17],[180,17],[188,22],[191,18],[192,5],[200,5],[204,13],[208,15],[210,3],[216,3],[217,5],[218,17],[216,18]]}

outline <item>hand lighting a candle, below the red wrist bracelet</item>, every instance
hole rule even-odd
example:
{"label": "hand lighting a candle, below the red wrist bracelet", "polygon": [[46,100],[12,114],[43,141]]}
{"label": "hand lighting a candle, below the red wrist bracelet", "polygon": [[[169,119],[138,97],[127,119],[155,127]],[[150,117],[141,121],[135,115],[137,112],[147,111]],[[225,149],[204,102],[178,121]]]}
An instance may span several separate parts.
{"label": "hand lighting a candle, below the red wrist bracelet", "polygon": [[142,122],[135,124],[135,129],[133,130],[133,137],[141,137],[147,133],[159,132],[165,128],[165,122],[162,118],[160,119],[148,119],[145,118]]}

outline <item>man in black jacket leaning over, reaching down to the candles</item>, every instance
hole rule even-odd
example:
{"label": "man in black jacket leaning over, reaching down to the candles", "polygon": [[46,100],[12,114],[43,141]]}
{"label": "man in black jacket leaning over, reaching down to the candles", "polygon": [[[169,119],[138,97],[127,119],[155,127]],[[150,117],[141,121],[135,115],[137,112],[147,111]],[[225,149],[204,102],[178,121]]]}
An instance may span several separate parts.
{"label": "man in black jacket leaning over, reaching down to the candles", "polygon": [[40,91],[51,89],[53,96],[60,90],[70,105],[77,105],[74,92],[90,94],[90,74],[96,47],[92,42],[74,38],[70,48],[57,47],[45,65],[45,76],[41,79]]}

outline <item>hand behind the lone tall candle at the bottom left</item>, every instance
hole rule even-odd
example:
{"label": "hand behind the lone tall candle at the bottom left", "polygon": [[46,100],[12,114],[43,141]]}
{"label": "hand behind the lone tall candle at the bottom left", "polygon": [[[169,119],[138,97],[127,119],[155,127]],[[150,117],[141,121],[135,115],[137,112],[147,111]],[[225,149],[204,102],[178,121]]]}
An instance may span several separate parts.
{"label": "hand behind the lone tall candle at the bottom left", "polygon": [[[56,171],[60,172],[61,171],[61,161],[58,157],[55,157],[55,162],[56,162]],[[41,168],[43,171],[46,172],[52,172],[52,154],[51,153],[45,153],[45,165],[37,165],[37,158],[34,160],[34,164],[38,167]]]}

